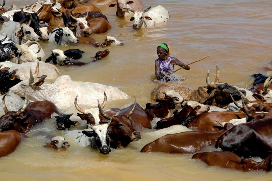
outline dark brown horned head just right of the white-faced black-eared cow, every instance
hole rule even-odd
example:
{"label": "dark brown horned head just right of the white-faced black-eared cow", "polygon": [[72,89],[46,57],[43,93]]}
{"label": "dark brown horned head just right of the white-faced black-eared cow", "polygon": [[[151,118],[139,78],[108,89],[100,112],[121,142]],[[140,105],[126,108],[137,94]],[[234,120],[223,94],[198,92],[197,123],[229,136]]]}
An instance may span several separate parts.
{"label": "dark brown horned head just right of the white-faced black-eared cow", "polygon": [[133,107],[128,113],[125,115],[109,116],[102,110],[98,101],[98,109],[100,114],[105,119],[111,120],[109,131],[112,133],[112,148],[123,148],[126,147],[131,141],[138,141],[141,139],[140,132],[134,129],[131,119],[129,119],[129,116],[131,116],[131,114],[134,112],[135,107],[136,98]]}

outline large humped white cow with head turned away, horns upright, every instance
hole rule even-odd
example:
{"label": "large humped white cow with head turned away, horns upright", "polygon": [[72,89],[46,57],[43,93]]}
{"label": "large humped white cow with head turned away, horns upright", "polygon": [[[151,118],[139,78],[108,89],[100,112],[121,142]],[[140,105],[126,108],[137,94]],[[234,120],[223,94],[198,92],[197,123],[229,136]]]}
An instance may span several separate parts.
{"label": "large humped white cow with head turned away, horns upright", "polygon": [[90,106],[97,106],[97,100],[104,99],[104,91],[108,94],[108,100],[129,98],[127,94],[116,87],[73,81],[68,75],[58,77],[53,83],[44,83],[46,75],[37,77],[38,72],[39,64],[37,64],[34,75],[30,71],[30,78],[11,87],[9,92],[21,97],[25,96],[30,101],[49,100],[61,110],[72,106],[76,95],[78,95],[80,103]]}

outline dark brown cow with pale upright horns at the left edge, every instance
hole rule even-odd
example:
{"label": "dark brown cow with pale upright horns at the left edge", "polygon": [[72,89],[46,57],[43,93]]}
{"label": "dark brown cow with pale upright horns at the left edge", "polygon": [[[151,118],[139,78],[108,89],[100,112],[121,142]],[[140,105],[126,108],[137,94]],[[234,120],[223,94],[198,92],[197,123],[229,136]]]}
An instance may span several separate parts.
{"label": "dark brown cow with pale upright horns at the left edge", "polygon": [[5,115],[0,118],[0,132],[8,130],[16,130],[21,133],[29,132],[33,125],[43,122],[46,118],[50,118],[52,113],[61,114],[57,106],[47,100],[27,103],[19,111],[8,111],[5,105],[5,96],[2,98],[2,106]]}

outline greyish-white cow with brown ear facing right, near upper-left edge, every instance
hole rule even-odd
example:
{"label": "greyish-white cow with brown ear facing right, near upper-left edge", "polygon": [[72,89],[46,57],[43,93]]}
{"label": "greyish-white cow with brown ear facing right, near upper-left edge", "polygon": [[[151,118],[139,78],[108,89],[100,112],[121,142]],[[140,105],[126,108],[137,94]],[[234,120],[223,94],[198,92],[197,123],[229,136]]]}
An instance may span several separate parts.
{"label": "greyish-white cow with brown ear facing right, near upper-left edge", "polygon": [[20,24],[14,21],[3,23],[0,35],[8,35],[14,43],[18,44],[26,43],[28,40],[40,41],[41,39],[28,24]]}

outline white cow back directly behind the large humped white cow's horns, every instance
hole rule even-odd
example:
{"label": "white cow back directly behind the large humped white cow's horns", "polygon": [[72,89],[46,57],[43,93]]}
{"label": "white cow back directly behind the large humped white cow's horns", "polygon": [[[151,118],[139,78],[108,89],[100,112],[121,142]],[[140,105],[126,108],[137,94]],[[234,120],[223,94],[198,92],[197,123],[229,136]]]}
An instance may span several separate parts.
{"label": "white cow back directly behind the large humped white cow's horns", "polygon": [[[16,75],[18,75],[21,80],[24,80],[25,78],[29,78],[30,68],[33,70],[34,73],[34,70],[37,66],[37,62],[26,62],[23,64],[16,64],[6,61],[0,62],[0,65],[3,65],[2,68],[9,67],[10,68],[9,71],[17,69],[18,71]],[[41,75],[48,75],[47,79],[56,80],[56,78],[60,75],[60,71],[57,69],[55,65],[45,62],[39,62],[38,77],[40,77]]]}

